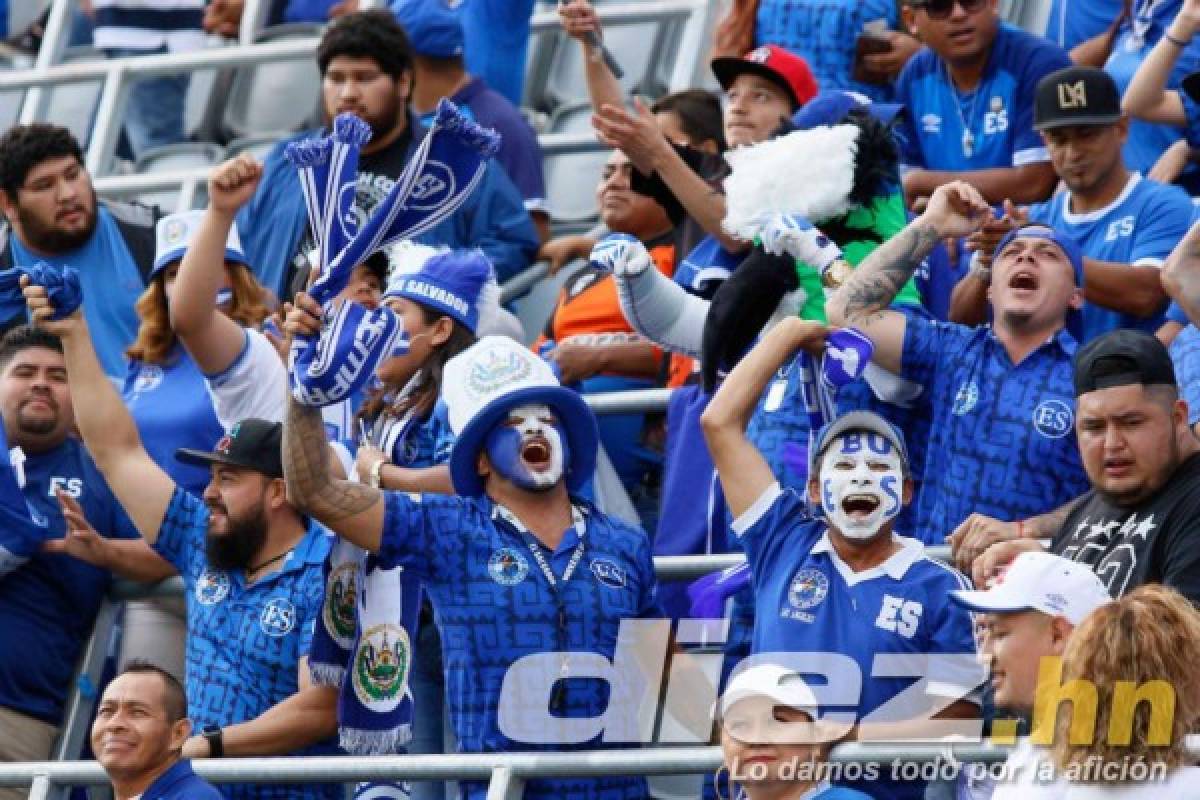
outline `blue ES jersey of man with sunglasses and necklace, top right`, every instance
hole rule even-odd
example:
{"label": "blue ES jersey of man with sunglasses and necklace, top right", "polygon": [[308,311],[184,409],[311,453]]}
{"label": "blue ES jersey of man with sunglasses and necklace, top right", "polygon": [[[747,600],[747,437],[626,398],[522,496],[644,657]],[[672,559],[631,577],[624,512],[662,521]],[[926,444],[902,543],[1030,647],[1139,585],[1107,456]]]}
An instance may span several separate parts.
{"label": "blue ES jersey of man with sunglasses and necklace, top right", "polygon": [[896,80],[907,109],[901,163],[964,172],[1050,161],[1033,130],[1033,94],[1038,80],[1067,66],[1057,44],[1001,24],[979,84],[962,94],[942,60],[922,49]]}

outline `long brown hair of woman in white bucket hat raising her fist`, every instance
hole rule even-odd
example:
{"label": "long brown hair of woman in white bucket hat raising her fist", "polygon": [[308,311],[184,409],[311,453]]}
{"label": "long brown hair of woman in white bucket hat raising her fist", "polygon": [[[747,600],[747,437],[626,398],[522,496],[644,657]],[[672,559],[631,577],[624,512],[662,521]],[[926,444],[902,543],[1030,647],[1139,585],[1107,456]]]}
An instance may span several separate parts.
{"label": "long brown hair of woman in white bucket hat raising her fist", "polygon": [[[222,313],[242,327],[258,327],[270,311],[266,307],[269,293],[242,264],[227,264],[229,288],[233,300]],[[138,312],[138,337],[125,355],[134,361],[163,365],[175,347],[175,331],[170,330],[170,311],[167,308],[167,271],[154,276],[150,285],[133,306]]]}

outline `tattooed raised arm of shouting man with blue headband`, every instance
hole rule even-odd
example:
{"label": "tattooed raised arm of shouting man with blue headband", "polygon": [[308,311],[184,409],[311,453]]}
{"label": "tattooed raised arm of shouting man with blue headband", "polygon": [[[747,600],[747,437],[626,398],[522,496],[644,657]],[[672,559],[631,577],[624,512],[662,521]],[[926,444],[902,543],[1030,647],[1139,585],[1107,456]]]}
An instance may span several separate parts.
{"label": "tattooed raised arm of shouting man with blue headband", "polygon": [[868,255],[826,302],[829,323],[866,333],[875,343],[872,360],[899,373],[905,317],[888,306],[938,240],[972,234],[990,217],[991,209],[971,185],[938,187],[924,213]]}

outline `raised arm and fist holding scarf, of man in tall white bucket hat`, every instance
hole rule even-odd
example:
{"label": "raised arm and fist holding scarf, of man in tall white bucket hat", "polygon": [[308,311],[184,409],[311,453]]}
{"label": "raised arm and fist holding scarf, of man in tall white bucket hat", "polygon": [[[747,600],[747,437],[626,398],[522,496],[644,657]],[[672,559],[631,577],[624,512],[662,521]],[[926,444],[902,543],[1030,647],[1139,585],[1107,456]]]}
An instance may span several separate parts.
{"label": "raised arm and fist holding scarf, of man in tall white bucket hat", "polygon": [[[287,332],[313,333],[320,306],[300,293],[288,314]],[[383,536],[384,499],[379,489],[335,476],[320,409],[301,405],[288,392],[283,422],[283,477],[288,499],[302,513],[362,549],[376,552]]]}

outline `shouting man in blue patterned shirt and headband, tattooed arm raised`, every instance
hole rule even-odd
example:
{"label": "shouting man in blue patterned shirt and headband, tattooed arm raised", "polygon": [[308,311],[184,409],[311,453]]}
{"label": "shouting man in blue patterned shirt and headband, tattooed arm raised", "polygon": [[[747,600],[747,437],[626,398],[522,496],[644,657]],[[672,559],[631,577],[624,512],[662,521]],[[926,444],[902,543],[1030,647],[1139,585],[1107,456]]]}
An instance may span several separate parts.
{"label": "shouting man in blue patterned shirt and headband, tattooed arm raised", "polygon": [[[931,416],[917,539],[942,541],[972,512],[1024,519],[1087,487],[1075,446],[1067,313],[1082,303],[1082,255],[1042,225],[1010,231],[992,266],[990,326],[931,321],[888,308],[937,241],[978,230],[991,209],[972,186],[940,187],[826,305],[834,325],[875,343],[875,362],[924,387]],[[985,511],[990,509],[990,511]]]}

